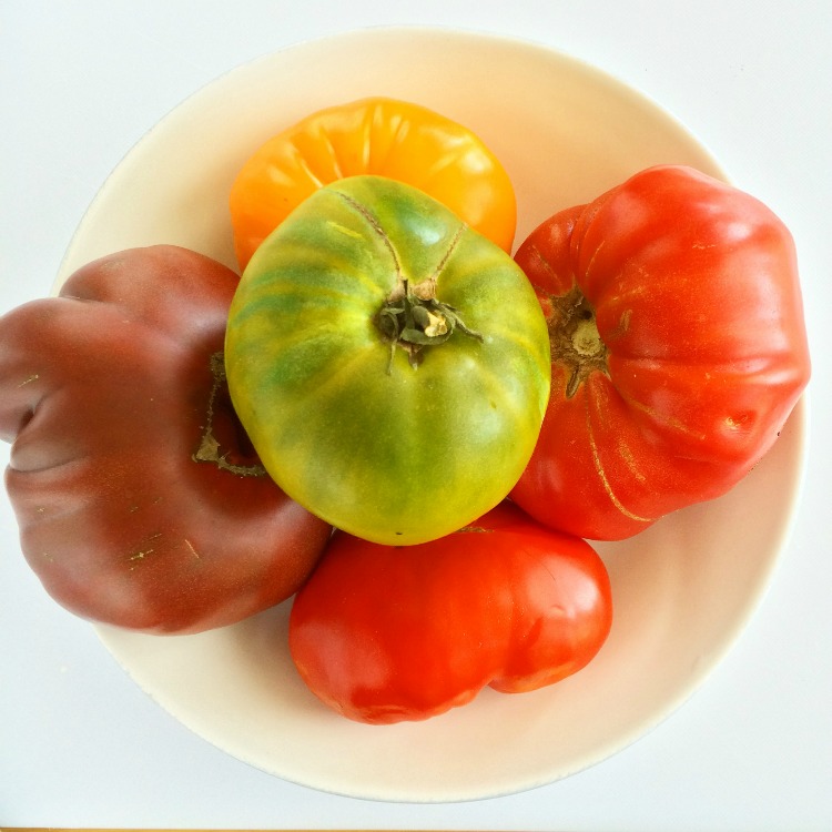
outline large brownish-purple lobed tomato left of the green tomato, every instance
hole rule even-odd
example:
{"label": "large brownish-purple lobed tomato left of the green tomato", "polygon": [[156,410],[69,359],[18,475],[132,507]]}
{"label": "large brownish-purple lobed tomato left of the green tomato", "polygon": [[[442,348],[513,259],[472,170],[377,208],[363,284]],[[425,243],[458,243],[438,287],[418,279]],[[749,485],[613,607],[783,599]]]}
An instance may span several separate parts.
{"label": "large brownish-purple lobed tomato left of the green tomato", "polygon": [[328,539],[265,476],[212,368],[237,281],[184,248],[136,248],[0,318],[21,546],[82,618],[160,635],[232,623],[292,595]]}

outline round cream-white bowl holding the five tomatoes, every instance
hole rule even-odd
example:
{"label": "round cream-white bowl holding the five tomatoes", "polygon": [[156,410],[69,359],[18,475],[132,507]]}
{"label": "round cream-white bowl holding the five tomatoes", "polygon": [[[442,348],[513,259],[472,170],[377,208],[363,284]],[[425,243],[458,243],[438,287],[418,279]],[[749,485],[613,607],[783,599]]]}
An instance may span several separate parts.
{"label": "round cream-white bowl holding the five tomatoes", "polygon": [[[518,242],[554,211],[657,163],[722,175],[657,105],[608,75],[528,43],[371,29],[257,60],[151,130],[83,219],[59,281],[121,248],[176,243],[234,265],[226,197],[267,136],[319,108],[385,94],[476,131],[519,202]],[[670,714],[726,655],[784,547],[804,461],[801,403],[768,457],[726,497],[599,545],[616,619],[600,655],[534,693],[485,690],[422,723],[368,727],[326,710],[286,648],[288,605],[234,627],[153,637],[99,627],[163,708],[229,753],[315,789],[393,801],[517,792],[579,771]]]}

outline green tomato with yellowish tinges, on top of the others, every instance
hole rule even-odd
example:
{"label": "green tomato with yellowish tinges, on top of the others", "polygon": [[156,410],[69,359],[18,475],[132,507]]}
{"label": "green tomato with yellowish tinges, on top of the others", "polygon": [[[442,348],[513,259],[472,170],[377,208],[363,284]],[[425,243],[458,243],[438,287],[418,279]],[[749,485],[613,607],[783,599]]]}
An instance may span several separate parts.
{"label": "green tomato with yellowish tinges, on top of the others", "polygon": [[264,241],[232,303],[232,400],[286,494],[352,535],[418,544],[497,505],[549,395],[522,271],[382,176],[322,187]]}

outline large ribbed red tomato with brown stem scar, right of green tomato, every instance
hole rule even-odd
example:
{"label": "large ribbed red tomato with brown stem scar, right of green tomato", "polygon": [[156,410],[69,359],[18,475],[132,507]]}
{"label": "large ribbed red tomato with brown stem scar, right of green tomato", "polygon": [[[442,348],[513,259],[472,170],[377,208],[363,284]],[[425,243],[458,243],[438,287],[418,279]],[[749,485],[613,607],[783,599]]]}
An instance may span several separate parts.
{"label": "large ribbed red tomato with brown stem scar, right of green tomato", "polygon": [[[552,387],[511,496],[542,522],[620,539],[724,494],[808,384],[791,235],[704,174],[642,171],[551,216],[515,258],[549,322]],[[576,371],[562,337],[581,313],[599,342]]]}

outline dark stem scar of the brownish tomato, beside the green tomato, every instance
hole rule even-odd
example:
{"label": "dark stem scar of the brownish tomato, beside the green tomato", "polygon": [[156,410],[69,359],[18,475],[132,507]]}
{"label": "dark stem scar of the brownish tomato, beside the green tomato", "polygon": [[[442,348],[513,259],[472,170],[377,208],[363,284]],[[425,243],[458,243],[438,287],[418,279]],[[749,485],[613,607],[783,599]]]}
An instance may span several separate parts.
{"label": "dark stem scar of the brownish tomato, beside the green tomato", "polygon": [[[200,447],[191,455],[191,458],[195,463],[212,463],[220,470],[226,470],[239,477],[266,476],[266,469],[260,464],[251,440],[231,404],[222,352],[211,356],[210,366],[214,381],[209,393]],[[231,449],[221,454],[220,449],[224,445],[231,446]]]}

